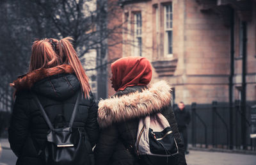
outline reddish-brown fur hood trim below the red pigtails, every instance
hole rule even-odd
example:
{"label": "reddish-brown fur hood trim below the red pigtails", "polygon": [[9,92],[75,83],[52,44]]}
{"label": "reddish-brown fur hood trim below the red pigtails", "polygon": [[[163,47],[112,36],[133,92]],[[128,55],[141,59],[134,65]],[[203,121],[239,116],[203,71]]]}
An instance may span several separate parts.
{"label": "reddish-brown fur hood trim below the red pigtails", "polygon": [[71,74],[73,72],[73,68],[67,64],[58,65],[52,68],[39,68],[22,77],[19,77],[17,80],[13,81],[13,83],[10,83],[10,86],[13,86],[16,91],[25,89],[30,90],[33,84],[46,77],[50,77],[56,74]]}

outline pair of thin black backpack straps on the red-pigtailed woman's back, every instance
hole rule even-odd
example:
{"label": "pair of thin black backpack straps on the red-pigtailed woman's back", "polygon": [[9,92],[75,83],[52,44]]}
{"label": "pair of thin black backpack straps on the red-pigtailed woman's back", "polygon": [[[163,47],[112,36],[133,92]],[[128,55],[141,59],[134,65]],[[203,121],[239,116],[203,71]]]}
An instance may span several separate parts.
{"label": "pair of thin black backpack straps on the red-pigtailed woman's back", "polygon": [[[47,114],[45,113],[45,110],[44,110],[44,107],[42,106],[42,104],[40,103],[40,100],[38,99],[38,97],[36,96],[35,93],[32,93],[33,97],[35,98],[35,101],[36,101],[36,104],[37,106],[39,107],[43,117],[44,117],[44,120],[45,122],[47,123],[48,127],[53,130],[54,127],[52,126],[52,123],[51,121],[49,120]],[[81,97],[81,93],[78,92],[78,95],[77,95],[77,98],[76,98],[76,104],[74,106],[74,109],[73,109],[73,113],[72,113],[72,116],[70,118],[70,122],[68,123],[68,127],[72,127],[73,123],[74,123],[74,120],[75,120],[75,117],[76,117],[76,112],[77,112],[77,106],[78,106],[78,102],[80,100],[80,97]]]}

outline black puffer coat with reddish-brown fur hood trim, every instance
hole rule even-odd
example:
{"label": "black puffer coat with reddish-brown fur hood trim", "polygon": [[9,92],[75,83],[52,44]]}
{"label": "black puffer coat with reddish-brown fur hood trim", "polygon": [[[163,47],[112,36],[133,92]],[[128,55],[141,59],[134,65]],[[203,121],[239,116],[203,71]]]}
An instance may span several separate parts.
{"label": "black puffer coat with reddish-brown fur hood trim", "polygon": [[[31,81],[36,83],[31,84]],[[29,85],[32,86],[31,90],[26,89],[26,86]],[[69,122],[77,94],[81,92],[81,87],[75,74],[68,73],[67,70],[59,70],[52,73],[49,69],[40,72],[39,75],[38,73],[26,75],[26,77],[18,79],[15,82],[15,86],[19,88],[19,91],[15,98],[9,128],[10,146],[18,157],[17,164],[39,165],[42,162],[37,153],[45,146],[49,127],[36,106],[31,91],[38,95],[53,125],[61,127],[65,123],[59,116],[63,115],[66,123]],[[87,134],[86,144],[88,152],[92,156],[92,146],[95,145],[99,137],[97,105],[92,93],[90,93],[90,98],[83,97],[79,101],[73,127],[85,128]]]}

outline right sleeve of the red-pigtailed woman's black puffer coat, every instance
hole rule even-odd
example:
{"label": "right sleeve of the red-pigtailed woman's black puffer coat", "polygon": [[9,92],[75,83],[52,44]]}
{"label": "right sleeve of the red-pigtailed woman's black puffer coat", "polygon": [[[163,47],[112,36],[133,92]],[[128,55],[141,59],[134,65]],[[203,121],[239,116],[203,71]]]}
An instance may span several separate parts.
{"label": "right sleeve of the red-pigtailed woman's black puffer coat", "polygon": [[95,103],[92,93],[90,92],[90,109],[88,112],[85,130],[88,134],[92,147],[97,143],[99,139],[99,124],[97,122],[97,113],[98,106]]}

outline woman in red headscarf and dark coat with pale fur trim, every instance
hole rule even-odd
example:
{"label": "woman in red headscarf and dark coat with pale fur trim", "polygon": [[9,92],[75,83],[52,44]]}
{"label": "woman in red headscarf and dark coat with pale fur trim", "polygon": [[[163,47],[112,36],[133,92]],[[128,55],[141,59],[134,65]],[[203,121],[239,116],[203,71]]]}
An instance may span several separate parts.
{"label": "woman in red headscarf and dark coat with pale fur trim", "polygon": [[[152,79],[150,61],[143,57],[125,57],[111,65],[113,97],[99,102],[100,138],[95,148],[96,164],[146,164],[136,156],[137,134],[141,118],[163,114],[170,123],[179,153],[166,161],[148,159],[148,164],[186,164],[184,145],[171,106],[171,88],[165,81],[148,86]],[[156,161],[156,162],[154,162]]]}

